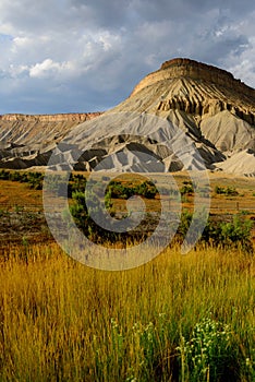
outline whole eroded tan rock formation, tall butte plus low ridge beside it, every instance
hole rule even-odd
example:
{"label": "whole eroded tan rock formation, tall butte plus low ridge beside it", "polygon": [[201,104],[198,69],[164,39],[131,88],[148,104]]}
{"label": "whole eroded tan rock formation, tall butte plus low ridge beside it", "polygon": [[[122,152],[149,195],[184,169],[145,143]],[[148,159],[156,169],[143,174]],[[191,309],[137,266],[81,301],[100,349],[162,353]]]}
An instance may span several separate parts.
{"label": "whole eroded tan rock formation, tall butte plus low ridge beside it", "polygon": [[255,176],[255,89],[205,63],[167,61],[113,109],[72,116],[2,116],[0,167],[46,166],[61,142],[57,168],[202,169],[198,153],[210,170]]}

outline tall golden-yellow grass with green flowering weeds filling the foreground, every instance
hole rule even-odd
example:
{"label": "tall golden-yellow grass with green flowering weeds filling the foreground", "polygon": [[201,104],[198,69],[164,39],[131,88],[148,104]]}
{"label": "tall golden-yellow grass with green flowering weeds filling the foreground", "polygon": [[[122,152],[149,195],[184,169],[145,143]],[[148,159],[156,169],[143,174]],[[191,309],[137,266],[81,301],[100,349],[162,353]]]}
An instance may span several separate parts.
{"label": "tall golden-yellow grass with green flowering weeds filling the foreground", "polygon": [[104,272],[24,246],[0,273],[0,381],[254,381],[251,255],[169,248]]}

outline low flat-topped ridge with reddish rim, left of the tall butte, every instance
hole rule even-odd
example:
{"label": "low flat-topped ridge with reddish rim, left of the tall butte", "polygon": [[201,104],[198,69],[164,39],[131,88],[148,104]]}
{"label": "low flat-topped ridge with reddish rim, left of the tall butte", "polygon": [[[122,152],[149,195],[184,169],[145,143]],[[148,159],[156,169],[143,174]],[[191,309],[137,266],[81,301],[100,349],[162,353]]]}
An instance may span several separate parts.
{"label": "low flat-topped ridge with reddish rim, left of the tall butte", "polygon": [[74,127],[101,112],[0,116],[0,167],[45,166],[50,154]]}

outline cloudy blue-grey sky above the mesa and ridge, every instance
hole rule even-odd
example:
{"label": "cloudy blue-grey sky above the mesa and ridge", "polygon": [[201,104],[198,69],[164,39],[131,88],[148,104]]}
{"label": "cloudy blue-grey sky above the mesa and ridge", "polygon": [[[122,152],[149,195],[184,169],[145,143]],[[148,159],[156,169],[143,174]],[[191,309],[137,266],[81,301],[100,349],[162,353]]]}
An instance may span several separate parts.
{"label": "cloudy blue-grey sky above the mesa and ridge", "polygon": [[254,0],[1,0],[0,115],[107,110],[185,57],[255,87]]}

